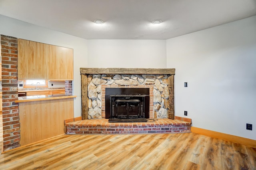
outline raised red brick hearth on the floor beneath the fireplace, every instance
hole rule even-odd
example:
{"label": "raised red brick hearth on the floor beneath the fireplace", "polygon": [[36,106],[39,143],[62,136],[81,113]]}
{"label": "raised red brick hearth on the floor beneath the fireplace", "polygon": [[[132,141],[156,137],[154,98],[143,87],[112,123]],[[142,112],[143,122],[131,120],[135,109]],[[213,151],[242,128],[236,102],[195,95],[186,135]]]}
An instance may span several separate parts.
{"label": "raised red brick hearth on the floor beneath the fireplace", "polygon": [[[74,120],[73,120],[74,121]],[[65,120],[66,134],[152,134],[190,132],[191,121],[158,119],[156,122],[109,123],[108,119]]]}

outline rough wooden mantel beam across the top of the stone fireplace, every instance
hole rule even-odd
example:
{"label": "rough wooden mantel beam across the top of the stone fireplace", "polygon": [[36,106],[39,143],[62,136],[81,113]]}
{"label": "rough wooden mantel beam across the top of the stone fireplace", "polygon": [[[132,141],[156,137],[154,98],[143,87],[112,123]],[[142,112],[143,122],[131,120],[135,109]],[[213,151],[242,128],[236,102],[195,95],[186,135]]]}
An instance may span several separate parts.
{"label": "rough wooden mantel beam across the top of the stone fireplace", "polygon": [[175,68],[80,68],[81,74],[175,74]]}

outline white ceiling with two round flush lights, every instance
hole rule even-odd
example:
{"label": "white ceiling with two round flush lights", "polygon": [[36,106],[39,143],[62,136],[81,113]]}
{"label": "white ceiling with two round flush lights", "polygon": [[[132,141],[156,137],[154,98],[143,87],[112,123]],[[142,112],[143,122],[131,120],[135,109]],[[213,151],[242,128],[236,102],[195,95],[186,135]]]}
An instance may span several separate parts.
{"label": "white ceiling with two round flush lights", "polygon": [[169,39],[254,16],[256,0],[0,0],[0,14],[85,39]]}

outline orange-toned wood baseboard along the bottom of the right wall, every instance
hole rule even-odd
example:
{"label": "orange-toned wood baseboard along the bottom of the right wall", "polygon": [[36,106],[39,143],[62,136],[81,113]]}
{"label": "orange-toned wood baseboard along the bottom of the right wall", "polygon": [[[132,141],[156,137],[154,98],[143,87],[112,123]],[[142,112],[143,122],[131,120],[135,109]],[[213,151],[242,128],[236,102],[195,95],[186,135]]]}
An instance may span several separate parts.
{"label": "orange-toned wood baseboard along the bottom of the right wall", "polygon": [[234,136],[231,134],[224,134],[221,132],[215,132],[212,130],[206,130],[206,129],[201,129],[201,128],[196,128],[196,127],[191,127],[191,132],[196,133],[196,134],[202,134],[205,136],[210,136],[212,138],[218,138],[218,139],[222,139],[222,140],[227,140],[227,141],[231,141],[234,143],[238,143],[238,144],[243,144],[246,146],[250,146],[252,148],[256,148],[256,140],[252,140],[252,139],[248,139],[248,138],[243,138],[240,136]]}

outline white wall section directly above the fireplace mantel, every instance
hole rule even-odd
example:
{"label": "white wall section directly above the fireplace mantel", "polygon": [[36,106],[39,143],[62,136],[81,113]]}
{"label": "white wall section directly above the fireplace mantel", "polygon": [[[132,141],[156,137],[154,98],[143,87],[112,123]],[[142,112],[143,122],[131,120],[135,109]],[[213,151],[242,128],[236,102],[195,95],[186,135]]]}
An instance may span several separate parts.
{"label": "white wall section directly above the fireplace mantel", "polygon": [[88,40],[90,68],[166,68],[166,40]]}

